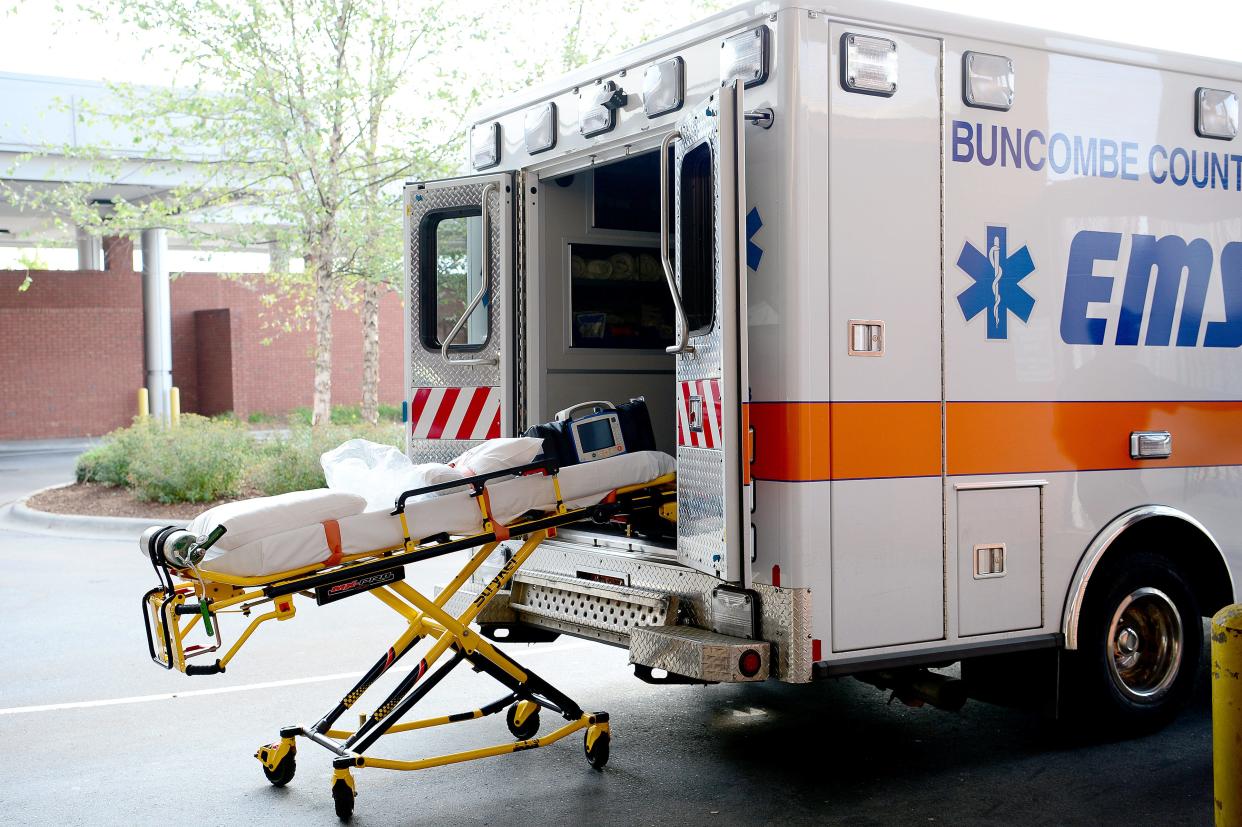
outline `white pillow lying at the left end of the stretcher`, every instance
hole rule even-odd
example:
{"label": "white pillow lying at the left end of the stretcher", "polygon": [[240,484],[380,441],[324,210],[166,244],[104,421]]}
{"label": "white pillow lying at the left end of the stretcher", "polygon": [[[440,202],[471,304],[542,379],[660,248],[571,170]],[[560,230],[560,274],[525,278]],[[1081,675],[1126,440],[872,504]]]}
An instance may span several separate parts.
{"label": "white pillow lying at the left end of the stretcher", "polygon": [[229,530],[216,543],[216,548],[229,551],[260,538],[361,514],[365,508],[366,498],[358,494],[328,488],[293,490],[209,508],[195,517],[186,530],[201,536],[214,531],[217,525],[224,525]]}

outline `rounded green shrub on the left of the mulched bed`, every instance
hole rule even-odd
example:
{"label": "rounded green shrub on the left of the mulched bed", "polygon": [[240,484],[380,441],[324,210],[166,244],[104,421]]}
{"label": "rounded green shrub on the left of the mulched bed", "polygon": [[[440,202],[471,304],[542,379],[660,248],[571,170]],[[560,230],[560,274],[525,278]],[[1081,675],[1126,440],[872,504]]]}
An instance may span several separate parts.
{"label": "rounded green shrub on the left of the mulched bed", "polygon": [[147,431],[128,469],[129,487],[139,499],[206,503],[240,493],[255,445],[237,422],[185,414],[176,428],[135,427]]}

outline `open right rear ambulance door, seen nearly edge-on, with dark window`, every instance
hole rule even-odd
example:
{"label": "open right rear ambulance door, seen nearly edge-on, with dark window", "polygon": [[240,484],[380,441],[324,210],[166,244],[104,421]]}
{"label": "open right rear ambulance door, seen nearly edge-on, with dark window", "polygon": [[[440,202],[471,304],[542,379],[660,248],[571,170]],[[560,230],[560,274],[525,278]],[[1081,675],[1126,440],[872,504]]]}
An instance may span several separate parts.
{"label": "open right rear ambulance door, seen nearly edge-on, with dark window", "polygon": [[677,556],[729,581],[743,580],[753,544],[744,448],[750,392],[743,115],[734,83],[691,107],[668,139],[678,308],[669,348],[677,354]]}

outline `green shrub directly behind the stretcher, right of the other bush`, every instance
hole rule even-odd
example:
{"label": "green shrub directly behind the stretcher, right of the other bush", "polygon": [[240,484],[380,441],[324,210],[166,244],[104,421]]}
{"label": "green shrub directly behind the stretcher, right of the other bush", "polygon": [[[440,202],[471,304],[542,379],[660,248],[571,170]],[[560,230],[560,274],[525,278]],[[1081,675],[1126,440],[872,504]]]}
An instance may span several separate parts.
{"label": "green shrub directly behind the stretcher, right of the other bush", "polygon": [[353,438],[405,447],[405,432],[401,426],[364,423],[310,428],[296,425],[289,428],[288,436],[277,436],[262,445],[258,459],[246,472],[245,483],[268,497],[291,490],[323,488],[327,482],[319,457]]}

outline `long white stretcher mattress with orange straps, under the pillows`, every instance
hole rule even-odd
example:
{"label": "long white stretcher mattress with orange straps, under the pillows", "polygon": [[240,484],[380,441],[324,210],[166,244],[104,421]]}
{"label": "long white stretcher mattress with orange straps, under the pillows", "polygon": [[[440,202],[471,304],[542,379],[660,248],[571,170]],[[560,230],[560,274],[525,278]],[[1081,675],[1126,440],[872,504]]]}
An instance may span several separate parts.
{"label": "long white stretcher mattress with orange straps, under the pillows", "polygon": [[[566,507],[585,508],[617,488],[671,474],[676,466],[672,457],[660,451],[637,451],[568,466],[560,469],[560,492]],[[543,474],[493,481],[487,490],[492,513],[501,523],[512,523],[528,512],[551,512],[556,507],[551,478]],[[416,541],[436,534],[469,535],[483,530],[483,515],[469,488],[407,502],[405,514],[410,536]],[[215,528],[210,520],[199,525],[200,520],[191,524],[193,530],[207,533]],[[347,555],[394,549],[402,545],[404,539],[400,518],[389,510],[368,512],[273,531],[231,549],[217,544],[209,550],[201,567],[224,575],[260,577],[332,563]]]}

